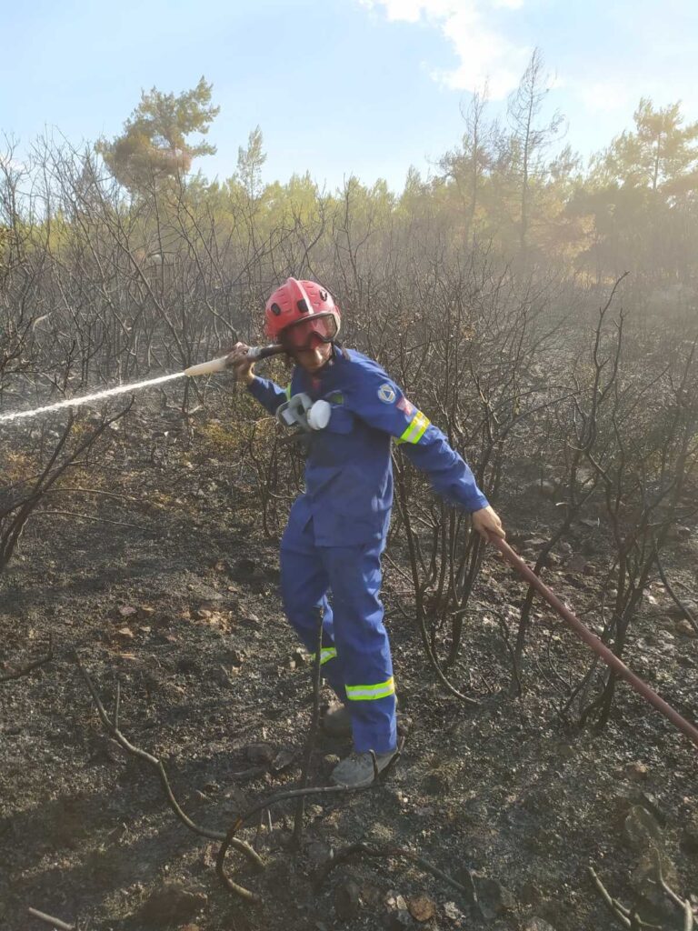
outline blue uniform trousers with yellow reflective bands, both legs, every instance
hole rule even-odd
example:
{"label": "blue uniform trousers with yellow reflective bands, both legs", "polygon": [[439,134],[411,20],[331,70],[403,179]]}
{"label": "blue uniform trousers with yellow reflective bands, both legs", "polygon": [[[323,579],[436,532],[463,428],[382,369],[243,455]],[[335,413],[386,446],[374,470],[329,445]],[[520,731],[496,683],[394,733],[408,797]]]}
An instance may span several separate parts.
{"label": "blue uniform trousers with yellow reflective bands, both legs", "polygon": [[[396,698],[383,625],[383,543],[317,546],[313,520],[291,509],[281,541],[281,592],[289,621],[311,652],[323,615],[322,673],[349,708],[359,752],[396,748]],[[331,603],[328,599],[331,594]]]}

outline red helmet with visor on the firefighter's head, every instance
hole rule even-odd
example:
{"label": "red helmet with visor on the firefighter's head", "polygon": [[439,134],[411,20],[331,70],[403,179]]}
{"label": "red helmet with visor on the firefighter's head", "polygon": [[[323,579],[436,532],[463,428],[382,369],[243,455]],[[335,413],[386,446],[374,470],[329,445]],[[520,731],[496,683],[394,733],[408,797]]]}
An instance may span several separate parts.
{"label": "red helmet with visor on the firefighter's head", "polygon": [[314,336],[331,343],[340,331],[340,308],[316,281],[287,278],[267,301],[264,317],[267,336],[291,349],[308,348]]}

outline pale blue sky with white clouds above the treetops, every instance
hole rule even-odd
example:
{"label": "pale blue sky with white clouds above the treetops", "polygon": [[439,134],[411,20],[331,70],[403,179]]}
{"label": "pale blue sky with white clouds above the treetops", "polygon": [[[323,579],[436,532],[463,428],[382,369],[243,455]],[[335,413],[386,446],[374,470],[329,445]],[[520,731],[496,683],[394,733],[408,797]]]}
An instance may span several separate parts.
{"label": "pale blue sky with white clouds above the treetops", "polygon": [[[204,74],[221,114],[212,178],[235,170],[258,124],[265,181],[306,169],[333,188],[354,173],[399,189],[462,132],[460,104],[487,78],[503,113],[533,47],[554,76],[551,110],[582,155],[632,123],[642,95],[698,119],[696,0],[0,0],[0,132],[112,137],[141,88]],[[9,41],[8,41],[9,39]],[[0,145],[2,149],[2,145]]]}

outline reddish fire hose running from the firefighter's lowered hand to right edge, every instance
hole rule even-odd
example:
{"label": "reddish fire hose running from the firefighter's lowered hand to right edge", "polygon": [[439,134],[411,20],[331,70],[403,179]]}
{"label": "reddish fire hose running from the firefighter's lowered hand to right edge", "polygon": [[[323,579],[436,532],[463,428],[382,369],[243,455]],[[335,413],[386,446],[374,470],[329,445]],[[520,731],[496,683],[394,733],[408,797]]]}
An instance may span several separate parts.
{"label": "reddish fire hose running from the firefighter's lowered hand to right edge", "polygon": [[499,549],[502,553],[503,558],[514,568],[516,569],[519,575],[522,575],[523,578],[530,583],[532,587],[541,595],[541,597],[547,601],[551,608],[557,611],[557,614],[565,621],[572,630],[577,634],[577,636],[586,643],[587,646],[596,653],[600,658],[606,663],[607,666],[611,667],[613,672],[616,673],[621,679],[624,679],[628,682],[639,695],[649,702],[653,708],[656,708],[660,711],[664,717],[670,721],[675,727],[681,731],[682,734],[685,734],[693,743],[698,747],[698,728],[691,722],[687,721],[685,718],[676,711],[671,705],[668,705],[664,698],[661,698],[657,695],[656,692],[653,692],[647,682],[642,681],[636,673],[625,666],[624,662],[613,653],[609,647],[603,643],[596,634],[592,633],[586,625],[580,621],[578,617],[571,613],[570,609],[562,603],[557,598],[557,595],[551,591],[541,579],[530,569],[530,567],[521,559],[517,553],[506,543],[505,540],[500,537],[494,537],[490,534],[490,543]]}

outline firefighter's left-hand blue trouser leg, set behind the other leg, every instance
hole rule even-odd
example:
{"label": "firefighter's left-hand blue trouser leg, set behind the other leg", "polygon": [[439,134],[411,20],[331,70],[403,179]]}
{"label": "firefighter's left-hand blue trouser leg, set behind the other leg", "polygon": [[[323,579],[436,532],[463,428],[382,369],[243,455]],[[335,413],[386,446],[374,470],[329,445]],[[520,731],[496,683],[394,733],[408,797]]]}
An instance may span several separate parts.
{"label": "firefighter's left-hand blue trouser leg, set behind the other leg", "polygon": [[281,540],[281,595],[284,610],[303,645],[311,654],[317,649],[319,614],[322,624],[322,674],[337,696],[346,701],[342,668],[333,638],[332,609],[326,592],[328,575],[319,551],[315,549],[313,524],[294,517],[298,509],[291,508],[289,524]]}

